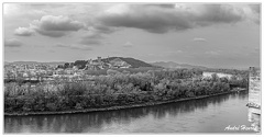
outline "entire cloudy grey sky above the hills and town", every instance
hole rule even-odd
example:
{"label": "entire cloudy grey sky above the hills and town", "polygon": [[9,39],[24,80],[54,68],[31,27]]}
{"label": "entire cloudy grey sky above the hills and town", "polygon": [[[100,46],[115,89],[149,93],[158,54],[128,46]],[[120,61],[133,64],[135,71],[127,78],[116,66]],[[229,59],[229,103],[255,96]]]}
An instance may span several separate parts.
{"label": "entire cloudy grey sky above the hills and town", "polygon": [[4,60],[260,66],[257,4],[4,3]]}

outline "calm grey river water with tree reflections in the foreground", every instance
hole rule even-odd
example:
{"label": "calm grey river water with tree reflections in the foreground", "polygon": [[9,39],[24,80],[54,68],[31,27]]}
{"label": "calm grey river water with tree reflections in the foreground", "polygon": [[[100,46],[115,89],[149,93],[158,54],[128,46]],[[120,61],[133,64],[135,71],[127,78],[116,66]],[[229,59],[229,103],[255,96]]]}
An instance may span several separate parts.
{"label": "calm grey river water with tree reflections in the foreground", "polygon": [[245,91],[119,111],[6,116],[4,133],[256,133],[248,96]]}

